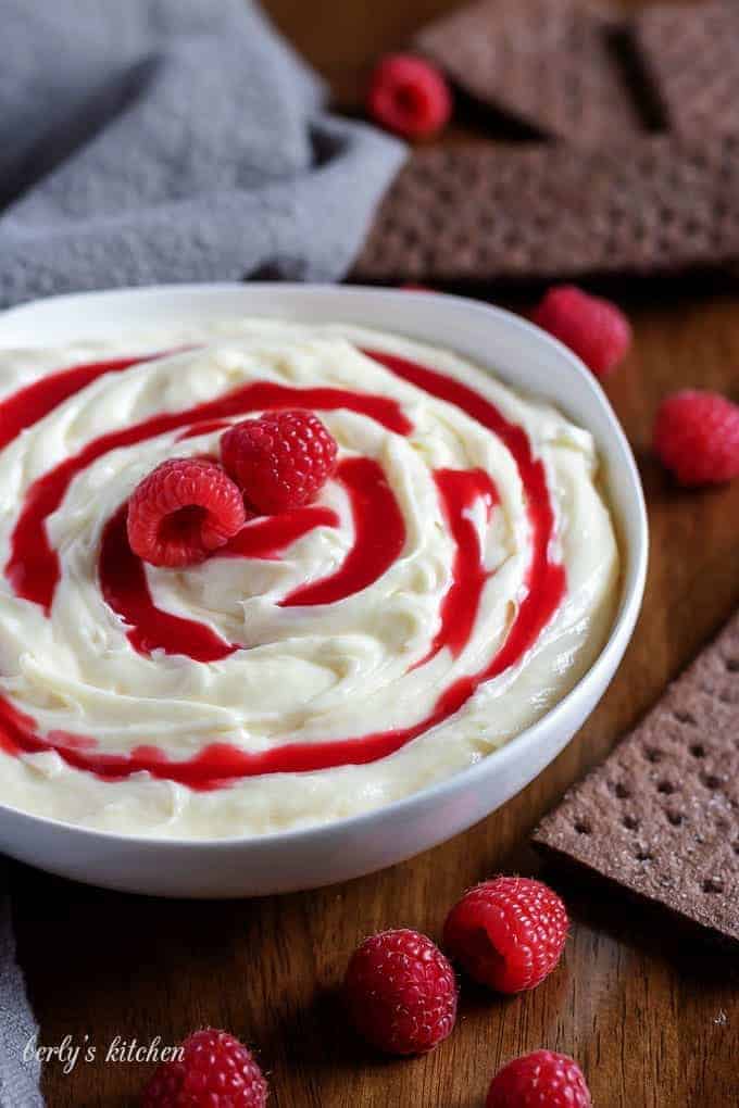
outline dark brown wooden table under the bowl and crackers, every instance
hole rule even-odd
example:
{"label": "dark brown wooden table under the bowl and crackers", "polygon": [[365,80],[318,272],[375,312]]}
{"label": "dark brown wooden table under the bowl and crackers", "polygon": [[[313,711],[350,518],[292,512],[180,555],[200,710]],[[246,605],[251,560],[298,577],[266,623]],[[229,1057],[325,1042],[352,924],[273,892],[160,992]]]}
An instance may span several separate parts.
{"label": "dark brown wooden table under the bowl and crackers", "polygon": [[[351,95],[361,66],[444,0],[271,0],[298,48]],[[492,290],[493,294],[495,290]],[[276,1108],[481,1108],[494,1070],[547,1046],[575,1055],[598,1108],[736,1106],[739,989],[727,960],[673,938],[616,893],[552,880],[569,904],[561,968],[510,1001],[464,988],[455,1033],[411,1061],[379,1060],[343,1027],[336,986],[367,933],[438,936],[445,909],[500,869],[535,872],[528,830],[660,694],[739,603],[739,482],[680,493],[649,455],[656,404],[698,384],[739,400],[739,289],[728,280],[618,289],[636,345],[608,384],[639,459],[651,564],[620,671],[583,732],[528,789],[466,834],[384,873],[261,901],[176,903],[99,892],[18,866],[17,930],[41,1042],[97,1048],[70,1075],[47,1067],[51,1108],[135,1104],[150,1068],[102,1061],[120,1036],[175,1043],[233,1029],[259,1047]],[[22,1106],[19,1106],[22,1108]]]}

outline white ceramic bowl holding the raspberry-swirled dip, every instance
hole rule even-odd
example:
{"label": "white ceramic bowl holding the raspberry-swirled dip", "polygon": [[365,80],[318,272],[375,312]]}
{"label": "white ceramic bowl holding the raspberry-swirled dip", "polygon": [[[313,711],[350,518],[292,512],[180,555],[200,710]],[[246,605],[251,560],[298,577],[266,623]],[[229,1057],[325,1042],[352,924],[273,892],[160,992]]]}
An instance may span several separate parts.
{"label": "white ceramic bowl holding the raspberry-swirled dip", "polygon": [[623,558],[622,595],[603,652],[575,688],[506,746],[440,783],[326,827],[219,840],[130,838],[0,806],[0,849],[52,873],[162,896],[250,896],[311,889],[392,865],[504,804],[566,746],[603,696],[634,630],[647,566],[639,476],[593,376],[560,342],[487,305],[434,293],[305,285],[183,285],[54,297],[0,315],[1,346],[62,343],[130,326],[290,316],[356,322],[449,347],[551,400],[595,435]]}

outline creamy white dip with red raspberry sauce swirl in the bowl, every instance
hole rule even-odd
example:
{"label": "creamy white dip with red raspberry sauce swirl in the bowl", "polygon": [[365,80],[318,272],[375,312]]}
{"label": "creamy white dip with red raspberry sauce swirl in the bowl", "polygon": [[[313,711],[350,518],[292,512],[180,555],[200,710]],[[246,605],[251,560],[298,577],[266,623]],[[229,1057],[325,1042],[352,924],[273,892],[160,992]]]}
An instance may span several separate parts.
{"label": "creamy white dip with red raspberry sauce swirl in the bowl", "polygon": [[[591,435],[451,353],[247,320],[0,370],[4,803],[173,838],[340,819],[490,753],[603,646]],[[285,407],[339,443],[319,497],[192,568],[140,562],[141,479]]]}

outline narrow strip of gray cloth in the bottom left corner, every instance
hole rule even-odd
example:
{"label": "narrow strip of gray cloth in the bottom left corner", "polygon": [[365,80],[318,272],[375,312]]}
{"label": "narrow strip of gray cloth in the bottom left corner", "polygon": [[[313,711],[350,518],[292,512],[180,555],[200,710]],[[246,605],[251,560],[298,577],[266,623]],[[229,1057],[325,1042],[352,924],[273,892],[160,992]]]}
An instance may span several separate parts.
{"label": "narrow strip of gray cloth in the bottom left corner", "polygon": [[[6,888],[7,879],[8,866],[0,861],[0,880]],[[9,897],[3,895],[0,897],[0,1108],[43,1108],[40,1066],[32,1051],[38,1030],[16,962]]]}

